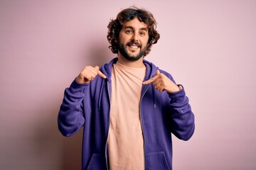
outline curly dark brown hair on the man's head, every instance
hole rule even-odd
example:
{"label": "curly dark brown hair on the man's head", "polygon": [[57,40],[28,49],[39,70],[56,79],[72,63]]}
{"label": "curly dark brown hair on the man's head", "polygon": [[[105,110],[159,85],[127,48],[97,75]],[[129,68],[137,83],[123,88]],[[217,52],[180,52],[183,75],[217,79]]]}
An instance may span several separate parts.
{"label": "curly dark brown hair on the man's head", "polygon": [[107,28],[109,29],[107,32],[107,40],[110,42],[109,48],[114,54],[117,54],[118,52],[117,40],[119,40],[119,32],[122,29],[123,24],[127,21],[131,21],[135,17],[137,17],[139,21],[146,23],[146,25],[148,26],[149,41],[144,53],[144,57],[149,54],[151,50],[151,45],[156,44],[156,42],[159,40],[160,35],[156,31],[157,23],[152,13],[142,8],[132,6],[130,8],[126,8],[120,11],[117,14],[117,18],[114,20],[111,19],[109,25],[107,26]]}

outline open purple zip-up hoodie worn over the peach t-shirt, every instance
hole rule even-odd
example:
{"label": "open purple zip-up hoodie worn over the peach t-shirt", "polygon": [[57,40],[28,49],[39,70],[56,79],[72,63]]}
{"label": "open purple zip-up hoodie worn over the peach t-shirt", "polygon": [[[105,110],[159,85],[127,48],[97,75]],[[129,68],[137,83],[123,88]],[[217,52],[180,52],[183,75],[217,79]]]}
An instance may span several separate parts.
{"label": "open purple zip-up hoodie worn over the peach t-shirt", "polygon": [[[58,113],[58,128],[68,137],[83,127],[83,170],[109,169],[107,136],[110,127],[111,71],[115,62],[117,58],[100,68],[107,79],[97,76],[90,84],[78,84],[73,81],[70,87],[65,89]],[[146,60],[144,64],[144,80],[151,79],[158,68]],[[171,74],[163,70],[160,72],[174,81]],[[139,106],[144,135],[145,169],[171,170],[171,133],[178,139],[189,140],[195,130],[194,115],[184,88],[168,94],[166,91],[156,90],[153,84],[143,85]]]}

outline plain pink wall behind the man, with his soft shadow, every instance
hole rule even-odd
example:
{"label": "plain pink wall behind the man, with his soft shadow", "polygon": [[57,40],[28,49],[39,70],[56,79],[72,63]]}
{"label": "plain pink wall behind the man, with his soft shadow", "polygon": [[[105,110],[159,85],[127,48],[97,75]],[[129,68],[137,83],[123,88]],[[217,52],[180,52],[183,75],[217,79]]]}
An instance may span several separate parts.
{"label": "plain pink wall behind the man, with his soft shadow", "polygon": [[0,169],[80,169],[81,131],[58,132],[63,91],[113,55],[107,24],[151,11],[161,38],[147,60],[183,84],[196,115],[174,137],[174,169],[256,169],[256,1],[0,1]]}

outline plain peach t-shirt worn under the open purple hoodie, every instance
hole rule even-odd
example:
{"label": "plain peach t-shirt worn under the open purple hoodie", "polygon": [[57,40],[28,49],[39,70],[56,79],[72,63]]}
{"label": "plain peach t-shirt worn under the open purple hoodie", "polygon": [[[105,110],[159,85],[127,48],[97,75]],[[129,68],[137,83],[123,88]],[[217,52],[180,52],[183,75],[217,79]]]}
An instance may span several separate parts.
{"label": "plain peach t-shirt worn under the open purple hoodie", "polygon": [[112,68],[110,130],[107,140],[110,170],[144,169],[144,137],[139,113],[146,67]]}

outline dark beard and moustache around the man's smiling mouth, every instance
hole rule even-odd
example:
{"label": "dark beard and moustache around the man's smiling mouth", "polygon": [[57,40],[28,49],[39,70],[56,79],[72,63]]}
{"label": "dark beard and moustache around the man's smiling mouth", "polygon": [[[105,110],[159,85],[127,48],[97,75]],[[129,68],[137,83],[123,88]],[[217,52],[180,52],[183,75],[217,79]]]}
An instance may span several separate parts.
{"label": "dark beard and moustache around the man's smiling mouth", "polygon": [[[129,55],[129,53],[127,51],[127,46],[129,46],[129,45],[137,45],[140,48],[139,54],[137,56],[133,57],[132,55]],[[142,45],[140,45],[138,42],[134,42],[134,41],[127,42],[126,45],[122,44],[121,42],[118,42],[118,50],[126,60],[135,62],[144,56],[146,47],[142,48]],[[135,51],[132,50],[132,52],[135,52]]]}

